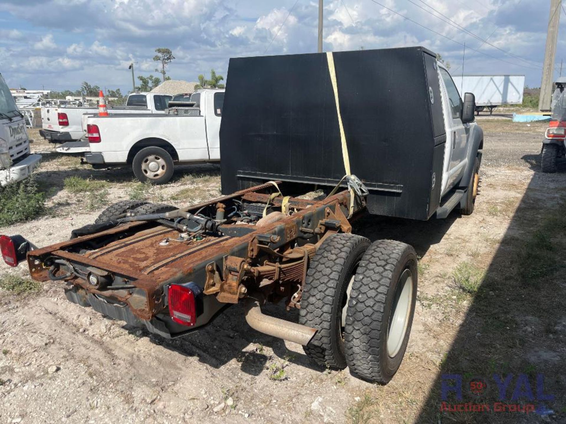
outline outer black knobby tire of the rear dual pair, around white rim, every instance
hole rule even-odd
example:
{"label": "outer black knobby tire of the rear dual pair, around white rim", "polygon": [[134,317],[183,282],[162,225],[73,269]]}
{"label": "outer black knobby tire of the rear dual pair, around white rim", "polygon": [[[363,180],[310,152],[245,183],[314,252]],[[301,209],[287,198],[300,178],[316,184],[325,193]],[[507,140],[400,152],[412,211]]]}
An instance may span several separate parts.
{"label": "outer black knobby tire of the rear dual pair, around white rim", "polygon": [[[411,282],[406,279],[410,272]],[[403,279],[402,279],[403,278]],[[401,295],[406,282],[410,293]],[[397,288],[400,291],[397,291]],[[405,300],[410,311],[405,317],[405,332],[393,339],[397,350],[388,351],[388,335],[395,305]],[[397,372],[409,342],[417,300],[417,255],[412,246],[393,240],[378,240],[363,255],[355,274],[346,314],[346,362],[353,375],[374,383],[385,384]]]}

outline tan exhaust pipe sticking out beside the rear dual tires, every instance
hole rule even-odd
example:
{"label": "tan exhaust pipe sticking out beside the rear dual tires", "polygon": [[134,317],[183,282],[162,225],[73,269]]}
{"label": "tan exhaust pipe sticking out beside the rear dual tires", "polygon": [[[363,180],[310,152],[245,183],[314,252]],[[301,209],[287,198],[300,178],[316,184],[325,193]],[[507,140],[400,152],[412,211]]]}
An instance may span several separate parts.
{"label": "tan exhaust pipe sticking out beside the rear dual tires", "polygon": [[248,297],[244,301],[246,322],[254,330],[263,334],[277,337],[279,339],[293,341],[293,343],[307,345],[312,336],[316,334],[316,329],[303,326],[285,319],[269,317],[261,312],[261,304],[264,302],[262,295]]}

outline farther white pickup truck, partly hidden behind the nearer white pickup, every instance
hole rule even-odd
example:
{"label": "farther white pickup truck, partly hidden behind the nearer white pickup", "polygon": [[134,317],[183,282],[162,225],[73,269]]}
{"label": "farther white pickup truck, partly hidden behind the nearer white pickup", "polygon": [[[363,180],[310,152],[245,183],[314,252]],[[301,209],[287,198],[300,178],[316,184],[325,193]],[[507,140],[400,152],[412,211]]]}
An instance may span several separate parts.
{"label": "farther white pickup truck, partly hidden behind the nearer white pickup", "polygon": [[[112,114],[163,114],[171,96],[154,93],[132,93],[125,106],[109,106]],[[40,135],[51,142],[76,141],[82,139],[83,114],[97,114],[96,107],[58,107],[41,108],[42,129]]]}

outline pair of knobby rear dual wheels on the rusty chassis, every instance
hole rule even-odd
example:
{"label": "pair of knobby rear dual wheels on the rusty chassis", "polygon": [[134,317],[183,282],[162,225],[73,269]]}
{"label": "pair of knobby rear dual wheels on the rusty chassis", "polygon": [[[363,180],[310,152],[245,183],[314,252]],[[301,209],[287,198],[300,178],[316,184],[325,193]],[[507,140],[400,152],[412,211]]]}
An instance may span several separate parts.
{"label": "pair of knobby rear dual wheels on the rusty chassis", "polygon": [[417,299],[417,255],[405,243],[335,234],[309,266],[299,322],[318,328],[306,354],[385,384],[401,365]]}

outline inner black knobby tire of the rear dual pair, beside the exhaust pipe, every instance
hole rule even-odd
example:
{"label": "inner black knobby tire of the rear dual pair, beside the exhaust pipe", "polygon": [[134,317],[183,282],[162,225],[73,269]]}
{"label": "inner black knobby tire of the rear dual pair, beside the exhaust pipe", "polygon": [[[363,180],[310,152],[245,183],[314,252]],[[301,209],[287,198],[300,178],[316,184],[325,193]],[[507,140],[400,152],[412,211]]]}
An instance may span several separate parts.
{"label": "inner black knobby tire of the rear dual pair, beside the exhaust pipe", "polygon": [[332,369],[346,367],[341,322],[345,293],[369,245],[368,239],[353,234],[329,236],[308,267],[299,323],[318,332],[303,349],[312,360]]}

